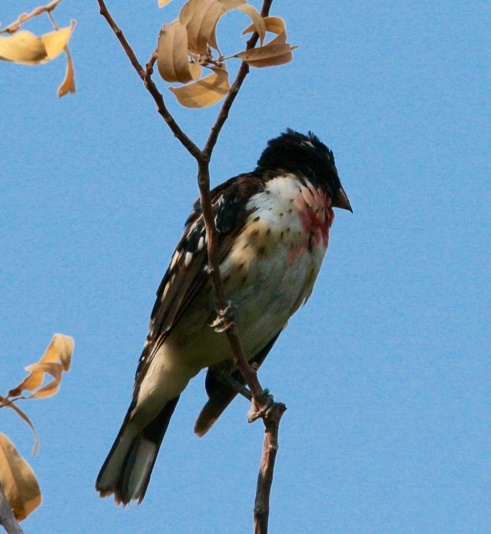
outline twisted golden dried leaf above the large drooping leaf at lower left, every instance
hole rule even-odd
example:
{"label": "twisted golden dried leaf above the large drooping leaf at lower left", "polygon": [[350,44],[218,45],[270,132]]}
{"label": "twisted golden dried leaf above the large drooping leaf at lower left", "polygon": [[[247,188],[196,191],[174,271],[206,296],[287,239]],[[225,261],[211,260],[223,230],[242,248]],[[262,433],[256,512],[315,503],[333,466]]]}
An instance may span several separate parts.
{"label": "twisted golden dried leaf above the large drooping leaf at lower left", "polygon": [[8,396],[18,397],[22,394],[22,391],[34,391],[43,383],[45,373],[51,374],[54,380],[28,398],[42,398],[54,395],[59,388],[61,371],[66,372],[70,368],[73,347],[73,337],[55,334],[44,356],[37,364],[26,367],[26,371],[31,371],[31,373],[17,387],[11,389]]}

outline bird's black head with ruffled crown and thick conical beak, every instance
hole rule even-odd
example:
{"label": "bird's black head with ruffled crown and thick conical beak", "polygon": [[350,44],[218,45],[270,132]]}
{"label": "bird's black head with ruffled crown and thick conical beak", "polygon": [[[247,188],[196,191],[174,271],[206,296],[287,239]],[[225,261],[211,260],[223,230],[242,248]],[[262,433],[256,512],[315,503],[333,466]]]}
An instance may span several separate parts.
{"label": "bird's black head with ruffled crown and thick conical beak", "polygon": [[334,154],[312,132],[304,135],[288,128],[279,137],[268,141],[257,162],[257,169],[282,169],[303,175],[328,189],[332,206],[353,212],[339,181]]}

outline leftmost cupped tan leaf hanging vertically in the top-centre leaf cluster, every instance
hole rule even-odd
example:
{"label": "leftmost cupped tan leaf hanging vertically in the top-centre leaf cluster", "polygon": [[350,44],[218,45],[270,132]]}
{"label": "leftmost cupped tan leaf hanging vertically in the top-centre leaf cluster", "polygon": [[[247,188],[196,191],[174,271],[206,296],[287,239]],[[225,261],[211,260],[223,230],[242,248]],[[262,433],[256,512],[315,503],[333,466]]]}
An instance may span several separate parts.
{"label": "leftmost cupped tan leaf hanging vertically in the top-centre leaf cluster", "polygon": [[186,27],[179,22],[166,24],[157,44],[157,67],[166,82],[199,80],[201,65],[188,59]]}

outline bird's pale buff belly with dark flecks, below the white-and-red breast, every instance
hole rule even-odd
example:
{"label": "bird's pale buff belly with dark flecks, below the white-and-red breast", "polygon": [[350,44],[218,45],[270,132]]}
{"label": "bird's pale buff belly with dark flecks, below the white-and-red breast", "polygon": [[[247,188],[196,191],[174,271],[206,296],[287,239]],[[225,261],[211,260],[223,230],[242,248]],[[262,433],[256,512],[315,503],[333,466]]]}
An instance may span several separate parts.
{"label": "bird's pale buff belly with dark flecks, below the white-and-red breast", "polygon": [[[226,297],[236,307],[237,327],[248,359],[286,326],[310,296],[326,252],[322,241],[312,247],[302,229],[295,226],[294,234],[294,225],[286,227],[290,227],[288,234],[281,228],[274,232],[263,228],[241,236],[220,265]],[[192,310],[181,317],[166,341],[195,374],[232,358],[226,336],[209,326],[215,318],[209,287],[196,297]]]}

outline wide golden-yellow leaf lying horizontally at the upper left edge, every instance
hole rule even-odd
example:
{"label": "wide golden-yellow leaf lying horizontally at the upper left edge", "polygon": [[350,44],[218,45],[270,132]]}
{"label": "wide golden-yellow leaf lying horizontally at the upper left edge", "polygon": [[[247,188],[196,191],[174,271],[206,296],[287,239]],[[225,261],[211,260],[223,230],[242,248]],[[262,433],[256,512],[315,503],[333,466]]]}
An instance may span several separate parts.
{"label": "wide golden-yellow leaf lying horizontally at the upper left edge", "polygon": [[0,37],[0,59],[25,65],[39,65],[56,58],[65,48],[72,26],[36,37],[30,32],[17,32],[9,37]]}

